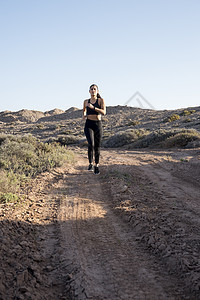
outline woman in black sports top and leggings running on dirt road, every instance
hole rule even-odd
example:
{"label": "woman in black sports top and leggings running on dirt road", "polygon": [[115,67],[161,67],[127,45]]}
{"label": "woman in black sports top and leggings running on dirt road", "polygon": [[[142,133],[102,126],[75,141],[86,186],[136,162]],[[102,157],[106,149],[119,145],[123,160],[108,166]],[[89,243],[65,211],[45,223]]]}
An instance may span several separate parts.
{"label": "woman in black sports top and leggings running on dirt road", "polygon": [[101,116],[106,114],[104,99],[99,95],[98,86],[92,84],[89,89],[90,99],[83,102],[83,119],[86,119],[84,132],[88,141],[88,170],[93,169],[93,153],[95,158],[94,174],[99,172],[99,155],[102,138]]}

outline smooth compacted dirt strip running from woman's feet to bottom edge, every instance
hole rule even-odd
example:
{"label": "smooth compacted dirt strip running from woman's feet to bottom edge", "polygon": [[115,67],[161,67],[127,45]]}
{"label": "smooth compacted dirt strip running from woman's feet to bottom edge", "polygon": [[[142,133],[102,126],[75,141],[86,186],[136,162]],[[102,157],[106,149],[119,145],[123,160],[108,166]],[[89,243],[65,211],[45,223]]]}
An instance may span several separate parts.
{"label": "smooth compacted dirt strip running from woman's feet to bottom edge", "polygon": [[60,261],[69,273],[66,290],[71,298],[179,299],[175,283],[113,213],[103,174],[89,173],[86,165],[79,158],[56,191]]}

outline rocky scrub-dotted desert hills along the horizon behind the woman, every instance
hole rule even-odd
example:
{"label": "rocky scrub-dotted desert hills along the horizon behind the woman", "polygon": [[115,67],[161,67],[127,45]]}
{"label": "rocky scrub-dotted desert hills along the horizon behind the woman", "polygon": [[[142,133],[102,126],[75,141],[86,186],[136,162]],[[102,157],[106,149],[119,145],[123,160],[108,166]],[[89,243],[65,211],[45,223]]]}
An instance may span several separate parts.
{"label": "rocky scrub-dotted desert hills along the horizon behind the woman", "polygon": [[[176,110],[151,110],[131,106],[108,106],[103,116],[103,145],[131,148],[149,146],[170,147],[166,139],[179,134],[178,146],[200,145],[200,106]],[[20,110],[0,112],[0,132],[6,134],[31,133],[44,142],[82,144],[85,141],[82,109],[66,111],[54,109],[40,112]],[[180,136],[181,134],[181,136]],[[184,140],[184,142],[182,142]]]}

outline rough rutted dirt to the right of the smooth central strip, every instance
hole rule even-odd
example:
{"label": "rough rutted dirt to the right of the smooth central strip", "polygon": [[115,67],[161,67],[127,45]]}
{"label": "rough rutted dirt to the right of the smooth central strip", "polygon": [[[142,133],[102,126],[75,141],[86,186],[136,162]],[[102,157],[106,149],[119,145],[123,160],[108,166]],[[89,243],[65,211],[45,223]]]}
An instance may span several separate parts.
{"label": "rough rutted dirt to the right of the smooth central strip", "polygon": [[[181,299],[199,299],[199,149],[112,150],[104,157],[120,216],[178,279]],[[120,177],[126,192],[117,186]]]}

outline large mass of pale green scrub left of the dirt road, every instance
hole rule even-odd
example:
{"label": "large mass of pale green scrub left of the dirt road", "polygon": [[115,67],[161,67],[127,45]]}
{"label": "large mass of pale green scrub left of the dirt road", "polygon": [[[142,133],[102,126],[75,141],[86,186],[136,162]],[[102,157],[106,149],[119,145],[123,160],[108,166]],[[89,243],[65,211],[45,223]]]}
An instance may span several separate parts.
{"label": "large mass of pale green scrub left of the dirt road", "polygon": [[30,134],[0,135],[0,201],[15,200],[31,177],[72,159],[58,143],[43,143]]}

